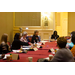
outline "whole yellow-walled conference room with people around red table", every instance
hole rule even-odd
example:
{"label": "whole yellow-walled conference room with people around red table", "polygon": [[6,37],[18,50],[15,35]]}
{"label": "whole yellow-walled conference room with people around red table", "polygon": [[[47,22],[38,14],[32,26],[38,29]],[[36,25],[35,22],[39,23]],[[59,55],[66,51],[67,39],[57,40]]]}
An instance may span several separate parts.
{"label": "whole yellow-walled conference room with people around red table", "polygon": [[74,62],[75,12],[0,12],[0,62]]}

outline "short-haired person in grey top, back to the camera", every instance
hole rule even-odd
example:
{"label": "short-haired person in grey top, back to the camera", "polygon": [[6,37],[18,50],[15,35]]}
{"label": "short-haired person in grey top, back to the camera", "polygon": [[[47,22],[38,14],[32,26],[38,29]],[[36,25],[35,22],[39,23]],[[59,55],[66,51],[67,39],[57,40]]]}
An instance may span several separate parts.
{"label": "short-haired person in grey top, back to the camera", "polygon": [[50,62],[74,62],[73,54],[66,48],[67,39],[59,37],[57,39],[57,46],[59,50],[56,52]]}

